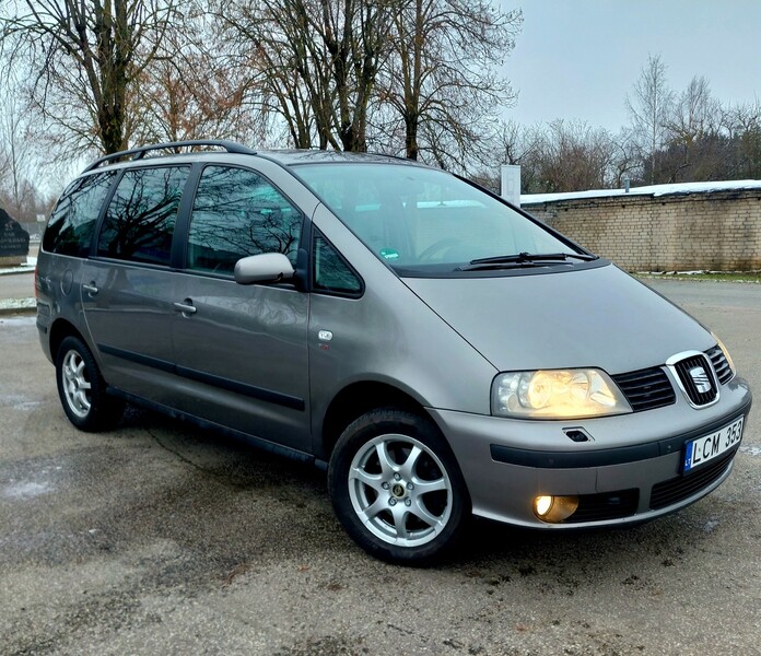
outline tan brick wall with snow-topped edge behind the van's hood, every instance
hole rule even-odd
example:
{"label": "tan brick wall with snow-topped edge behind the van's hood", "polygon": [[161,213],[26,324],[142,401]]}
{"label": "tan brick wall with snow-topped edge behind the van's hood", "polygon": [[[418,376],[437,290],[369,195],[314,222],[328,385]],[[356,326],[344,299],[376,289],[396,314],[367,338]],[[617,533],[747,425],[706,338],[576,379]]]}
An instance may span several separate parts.
{"label": "tan brick wall with snow-topped edge behind the van's hood", "polygon": [[761,189],[522,207],[628,271],[761,270]]}

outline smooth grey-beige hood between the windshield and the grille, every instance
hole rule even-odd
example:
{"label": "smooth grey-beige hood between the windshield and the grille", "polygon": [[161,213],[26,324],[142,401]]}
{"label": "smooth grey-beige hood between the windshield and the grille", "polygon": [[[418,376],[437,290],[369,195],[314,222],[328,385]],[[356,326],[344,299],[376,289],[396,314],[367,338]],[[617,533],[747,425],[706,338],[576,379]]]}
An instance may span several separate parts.
{"label": "smooth grey-beige hood between the windshield and the grille", "polygon": [[403,282],[499,371],[594,366],[619,374],[715,343],[687,313],[612,265]]}

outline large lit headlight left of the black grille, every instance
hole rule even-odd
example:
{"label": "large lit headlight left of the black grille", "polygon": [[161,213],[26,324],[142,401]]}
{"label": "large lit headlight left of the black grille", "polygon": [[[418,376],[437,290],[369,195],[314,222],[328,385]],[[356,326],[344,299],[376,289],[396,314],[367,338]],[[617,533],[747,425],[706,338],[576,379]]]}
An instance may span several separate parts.
{"label": "large lit headlight left of the black grille", "polygon": [[579,419],[631,412],[599,370],[542,370],[500,374],[492,383],[492,414],[524,419]]}

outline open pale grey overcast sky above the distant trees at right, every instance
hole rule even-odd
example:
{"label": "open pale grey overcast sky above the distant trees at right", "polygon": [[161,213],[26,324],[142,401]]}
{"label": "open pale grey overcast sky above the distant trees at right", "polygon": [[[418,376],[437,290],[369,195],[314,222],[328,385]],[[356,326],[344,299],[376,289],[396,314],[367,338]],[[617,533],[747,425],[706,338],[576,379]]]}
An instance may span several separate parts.
{"label": "open pale grey overcast sky above the distant trees at right", "polygon": [[523,30],[505,60],[507,118],[582,119],[618,132],[648,54],[677,92],[703,75],[726,102],[761,99],[761,0],[503,0]]}

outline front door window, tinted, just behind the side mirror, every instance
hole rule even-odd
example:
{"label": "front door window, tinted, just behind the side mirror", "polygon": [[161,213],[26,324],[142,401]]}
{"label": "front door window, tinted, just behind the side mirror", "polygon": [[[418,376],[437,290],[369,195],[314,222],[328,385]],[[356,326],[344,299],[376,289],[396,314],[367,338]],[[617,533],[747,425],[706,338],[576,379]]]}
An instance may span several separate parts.
{"label": "front door window, tinted, just behind the side mirror", "polygon": [[260,175],[203,169],[190,218],[188,267],[232,273],[242,257],[282,253],[296,261],[302,215]]}

